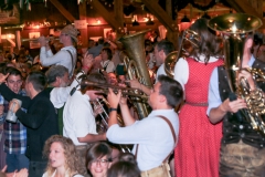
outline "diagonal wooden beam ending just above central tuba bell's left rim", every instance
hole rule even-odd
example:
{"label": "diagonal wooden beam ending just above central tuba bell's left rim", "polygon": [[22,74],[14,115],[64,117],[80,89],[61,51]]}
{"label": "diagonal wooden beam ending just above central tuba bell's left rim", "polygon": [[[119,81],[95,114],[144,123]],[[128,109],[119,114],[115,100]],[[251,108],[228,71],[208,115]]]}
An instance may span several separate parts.
{"label": "diagonal wooden beam ending just above central tuba bell's left rim", "polygon": [[109,13],[98,0],[94,0],[91,3],[98,12],[100,12],[100,15],[106,20],[106,22],[112,28],[114,28],[117,31],[124,29],[123,28],[124,25],[121,25],[119,22],[117,22],[117,20],[115,18],[113,18],[114,14]]}

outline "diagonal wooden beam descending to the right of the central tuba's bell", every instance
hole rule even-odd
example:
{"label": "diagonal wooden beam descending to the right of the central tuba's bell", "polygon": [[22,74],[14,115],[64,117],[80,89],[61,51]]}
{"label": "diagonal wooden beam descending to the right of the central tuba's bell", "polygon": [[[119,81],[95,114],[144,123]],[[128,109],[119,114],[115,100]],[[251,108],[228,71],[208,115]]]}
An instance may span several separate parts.
{"label": "diagonal wooden beam descending to the right of the central tuba's bell", "polygon": [[178,31],[178,27],[171,17],[152,0],[141,0],[150,12],[161,22],[168,30]]}

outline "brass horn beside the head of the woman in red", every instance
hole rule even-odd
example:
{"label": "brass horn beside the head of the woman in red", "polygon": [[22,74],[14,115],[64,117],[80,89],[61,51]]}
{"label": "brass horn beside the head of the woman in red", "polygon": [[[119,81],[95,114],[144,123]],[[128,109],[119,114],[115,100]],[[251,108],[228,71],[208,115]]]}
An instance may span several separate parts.
{"label": "brass horn beside the head of the woman in red", "polygon": [[165,71],[168,76],[173,77],[174,75],[174,65],[181,56],[189,55],[188,48],[198,48],[200,38],[197,32],[191,30],[184,30],[180,46],[178,51],[173,51],[167,55],[165,59]]}

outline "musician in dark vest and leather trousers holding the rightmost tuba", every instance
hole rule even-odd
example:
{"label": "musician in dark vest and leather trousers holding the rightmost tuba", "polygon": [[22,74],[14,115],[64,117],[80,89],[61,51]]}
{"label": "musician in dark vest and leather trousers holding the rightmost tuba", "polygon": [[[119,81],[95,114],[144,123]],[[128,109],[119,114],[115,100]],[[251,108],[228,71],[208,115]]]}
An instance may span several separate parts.
{"label": "musician in dark vest and leather trousers holding the rightmost tuba", "polygon": [[[256,67],[264,72],[265,63],[251,54],[253,39],[246,39],[243,53],[243,67]],[[240,79],[244,76],[250,84],[251,92],[264,94],[264,83],[255,84],[252,75],[242,70]],[[237,112],[247,108],[246,102],[237,97],[229,98],[231,90],[227,74],[223,66],[216,67],[210,80],[208,115],[213,124],[223,122],[223,137],[220,154],[220,176],[265,176],[265,137],[254,131],[245,118],[240,118]],[[264,100],[264,97],[263,97]]]}

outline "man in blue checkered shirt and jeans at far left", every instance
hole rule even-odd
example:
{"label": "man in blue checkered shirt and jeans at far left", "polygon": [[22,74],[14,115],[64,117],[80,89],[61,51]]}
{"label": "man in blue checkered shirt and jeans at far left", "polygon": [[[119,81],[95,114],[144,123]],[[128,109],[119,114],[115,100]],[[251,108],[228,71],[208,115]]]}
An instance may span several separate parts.
{"label": "man in blue checkered shirt and jeans at far left", "polygon": [[[21,90],[23,79],[21,72],[14,67],[7,67],[7,86],[15,94],[25,96],[25,92]],[[1,96],[1,100],[3,97]],[[4,101],[4,113],[7,115],[9,108],[9,102]],[[23,110],[23,108],[22,108]],[[26,112],[25,110],[23,110]],[[25,156],[26,149],[26,127],[18,121],[17,123],[11,123],[4,121],[3,123],[4,131],[4,152],[7,153],[7,165],[8,173],[13,173],[22,168],[29,168],[29,158]],[[20,135],[20,136],[18,136]]]}

